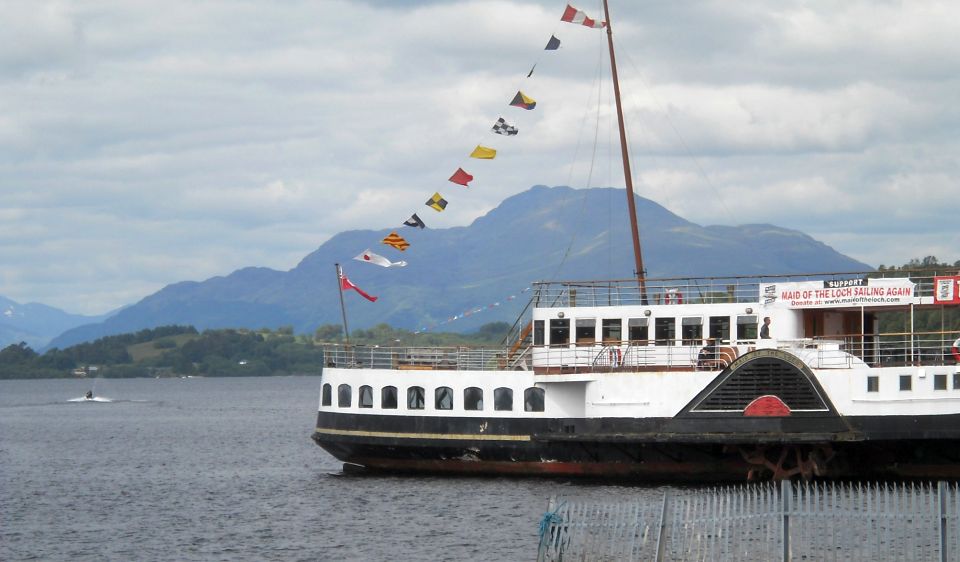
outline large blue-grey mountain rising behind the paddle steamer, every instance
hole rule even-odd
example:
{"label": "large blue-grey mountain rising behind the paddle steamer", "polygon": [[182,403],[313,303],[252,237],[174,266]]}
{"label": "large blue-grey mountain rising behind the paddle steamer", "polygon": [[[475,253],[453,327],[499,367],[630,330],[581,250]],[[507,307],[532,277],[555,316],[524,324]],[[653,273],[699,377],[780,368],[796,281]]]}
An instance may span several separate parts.
{"label": "large blue-grey mountain rising behind the paddle steamer", "polygon": [[[379,244],[390,230],[341,232],[290,271],[250,267],[203,282],[176,283],[105,322],[67,331],[51,346],[164,324],[198,329],[292,325],[297,332],[312,332],[341,323],[338,262],[354,283],[380,297],[370,303],[352,291],[344,294],[351,329],[381,322],[430,327],[477,307],[484,311],[444,329],[513,321],[526,304],[527,295],[520,293],[533,281],[633,276],[623,198],[620,189],[536,186],[467,227],[401,227],[412,244],[402,254],[410,263],[405,268],[351,259],[364,248],[399,259],[401,254]],[[649,277],[872,269],[795,230],[766,224],[704,227],[648,199],[637,197],[636,203]],[[517,298],[508,300],[512,295]]]}

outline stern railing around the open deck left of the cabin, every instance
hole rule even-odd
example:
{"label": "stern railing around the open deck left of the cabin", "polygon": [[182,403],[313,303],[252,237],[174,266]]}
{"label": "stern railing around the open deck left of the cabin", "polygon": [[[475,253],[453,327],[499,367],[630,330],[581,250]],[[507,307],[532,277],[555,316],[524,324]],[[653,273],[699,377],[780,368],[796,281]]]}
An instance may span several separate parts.
{"label": "stern railing around the open deck left of the cabin", "polygon": [[522,369],[515,358],[508,367],[509,350],[473,347],[376,346],[324,344],[324,365],[346,369],[395,369],[402,371],[483,371]]}

